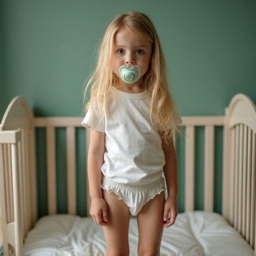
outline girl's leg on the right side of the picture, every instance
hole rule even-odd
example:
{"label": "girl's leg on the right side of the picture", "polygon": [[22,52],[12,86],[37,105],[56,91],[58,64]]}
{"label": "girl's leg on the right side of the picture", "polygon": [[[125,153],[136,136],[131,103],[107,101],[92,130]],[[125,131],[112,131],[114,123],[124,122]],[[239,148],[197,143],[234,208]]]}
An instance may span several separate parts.
{"label": "girl's leg on the right side of the picture", "polygon": [[164,191],[150,199],[137,214],[138,255],[160,255],[163,231]]}

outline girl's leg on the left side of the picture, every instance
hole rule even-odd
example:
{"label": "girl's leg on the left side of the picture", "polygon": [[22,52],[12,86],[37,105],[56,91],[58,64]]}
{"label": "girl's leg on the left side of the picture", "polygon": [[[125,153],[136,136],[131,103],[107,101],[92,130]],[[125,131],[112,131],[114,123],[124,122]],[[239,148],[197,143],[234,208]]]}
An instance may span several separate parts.
{"label": "girl's leg on the left side of the picture", "polygon": [[102,195],[107,206],[107,225],[103,226],[106,255],[129,255],[129,208],[114,192],[102,190]]}

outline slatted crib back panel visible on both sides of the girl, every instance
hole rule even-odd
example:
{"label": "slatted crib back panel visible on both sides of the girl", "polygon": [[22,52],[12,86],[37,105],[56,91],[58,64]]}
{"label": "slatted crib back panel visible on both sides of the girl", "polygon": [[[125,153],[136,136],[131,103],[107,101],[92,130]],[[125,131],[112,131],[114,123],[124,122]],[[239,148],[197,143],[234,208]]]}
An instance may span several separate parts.
{"label": "slatted crib back panel visible on both sides of the girl", "polygon": [[[194,157],[198,146],[195,134],[197,127],[202,127],[205,130],[205,152],[202,156],[204,159],[203,209],[208,211],[214,210],[214,134],[215,127],[221,127],[223,120],[223,116],[182,116],[182,126],[185,130],[184,211],[195,209],[195,203],[200,199],[196,198],[194,192],[196,188],[194,185],[194,172],[196,168]],[[45,142],[46,164],[45,169],[42,168],[40,172],[44,172],[46,176],[44,187],[47,190],[47,196],[46,202],[42,199],[42,204],[44,205],[43,208],[47,208],[47,211],[44,211],[42,215],[55,213],[77,214],[77,208],[79,207],[77,200],[81,198],[80,203],[86,204],[86,212],[83,211],[79,214],[89,216],[90,197],[86,178],[89,130],[81,127],[81,121],[81,117],[34,117],[34,126],[43,129],[43,134],[38,133],[38,136],[43,138]],[[58,141],[58,128],[61,128],[64,132],[61,143]],[[85,144],[82,149],[83,151],[79,151],[76,145],[78,141],[75,138],[77,129],[79,128],[85,133],[81,141],[81,143]],[[38,144],[39,147],[43,147],[41,140]],[[62,167],[58,166],[60,165],[58,163],[59,151],[63,152],[61,156]],[[78,163],[76,160],[79,155],[83,155],[84,157],[84,161],[80,167],[77,166]],[[37,157],[40,157],[40,155]],[[63,161],[65,162],[64,164]],[[85,173],[85,176],[83,175],[82,178],[77,173],[77,169],[79,168]],[[221,170],[218,171],[221,172]],[[82,182],[83,186],[86,187],[86,195],[78,193],[76,189],[78,182]],[[65,188],[61,190],[59,188],[60,186],[65,186]],[[44,191],[43,188],[41,189]],[[63,191],[62,195],[60,195],[61,191]]]}

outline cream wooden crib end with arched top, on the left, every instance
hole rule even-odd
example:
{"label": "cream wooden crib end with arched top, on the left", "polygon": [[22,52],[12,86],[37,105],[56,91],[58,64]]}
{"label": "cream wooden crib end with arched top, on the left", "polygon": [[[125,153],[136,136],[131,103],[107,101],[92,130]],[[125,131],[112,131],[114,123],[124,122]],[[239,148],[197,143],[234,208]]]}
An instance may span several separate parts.
{"label": "cream wooden crib end with arched top, on the left", "polygon": [[0,195],[4,256],[22,255],[23,239],[37,218],[34,130],[23,97],[8,105],[0,124]]}

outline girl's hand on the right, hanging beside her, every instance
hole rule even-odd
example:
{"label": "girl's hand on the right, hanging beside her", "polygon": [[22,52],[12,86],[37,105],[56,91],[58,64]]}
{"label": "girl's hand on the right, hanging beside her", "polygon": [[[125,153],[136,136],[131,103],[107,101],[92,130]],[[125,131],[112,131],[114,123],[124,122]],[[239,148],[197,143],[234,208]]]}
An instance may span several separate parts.
{"label": "girl's hand on the right, hanging beside her", "polygon": [[164,203],[163,226],[169,227],[172,224],[174,224],[177,214],[178,214],[177,200],[171,197],[167,197]]}

